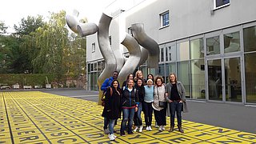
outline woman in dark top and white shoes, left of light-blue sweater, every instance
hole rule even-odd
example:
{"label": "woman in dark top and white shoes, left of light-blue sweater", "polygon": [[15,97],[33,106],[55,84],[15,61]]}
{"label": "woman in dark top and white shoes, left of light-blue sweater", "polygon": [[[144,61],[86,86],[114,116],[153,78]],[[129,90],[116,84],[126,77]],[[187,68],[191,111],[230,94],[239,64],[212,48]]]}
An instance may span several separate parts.
{"label": "woman in dark top and white shoes, left of light-blue sweater", "polygon": [[138,78],[137,83],[135,84],[135,88],[137,90],[138,94],[138,111],[134,114],[134,132],[142,132],[143,126],[142,126],[142,103],[144,102],[144,95],[145,95],[145,89],[143,86],[143,82],[141,78]]}

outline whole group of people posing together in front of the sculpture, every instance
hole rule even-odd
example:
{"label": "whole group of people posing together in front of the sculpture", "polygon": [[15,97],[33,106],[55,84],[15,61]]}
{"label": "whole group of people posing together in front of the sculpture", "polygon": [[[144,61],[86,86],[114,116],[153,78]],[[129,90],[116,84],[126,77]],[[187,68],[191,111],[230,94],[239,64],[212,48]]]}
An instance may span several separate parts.
{"label": "whole group of people posing together in front of the sculpture", "polygon": [[[182,130],[182,110],[186,104],[185,88],[182,82],[177,81],[176,74],[169,74],[167,84],[161,76],[154,78],[153,74],[148,74],[143,78],[141,70],[135,74],[129,74],[126,81],[120,83],[117,80],[118,72],[114,71],[113,76],[106,78],[102,83],[101,90],[105,94],[105,106],[102,112],[104,117],[104,132],[108,134],[110,140],[117,138],[114,135],[114,126],[118,118],[122,122],[120,135],[134,134],[142,132],[142,111],[145,118],[146,130],[152,130],[152,115],[158,126],[158,130],[165,130],[166,114],[170,117],[170,132],[174,131],[175,114],[178,119],[178,130]],[[132,129],[134,125],[134,130]]]}

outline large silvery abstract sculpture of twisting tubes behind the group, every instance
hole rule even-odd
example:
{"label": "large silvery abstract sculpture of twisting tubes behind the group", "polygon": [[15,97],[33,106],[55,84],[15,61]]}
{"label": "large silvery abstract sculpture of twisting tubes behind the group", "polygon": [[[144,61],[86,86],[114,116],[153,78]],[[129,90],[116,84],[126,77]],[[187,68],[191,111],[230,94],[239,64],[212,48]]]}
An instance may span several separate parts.
{"label": "large silvery abstract sculpture of twisting tubes behind the group", "polygon": [[[131,30],[134,37],[130,36],[130,34],[126,34],[126,37],[123,39],[122,45],[126,46],[130,53],[130,57],[123,64],[125,58],[114,54],[114,51],[110,47],[109,28],[112,17],[102,13],[98,26],[90,22],[78,22],[75,17],[78,17],[78,12],[73,15],[66,15],[66,23],[74,33],[85,37],[98,32],[98,46],[105,60],[105,69],[98,77],[99,88],[106,78],[112,76],[114,70],[119,72],[118,81],[122,83],[126,80],[128,74],[133,73],[136,67],[142,65],[146,60],[148,60],[147,64],[149,68],[158,68],[158,43],[146,35],[143,24],[133,24]],[[143,47],[141,48],[139,45]],[[102,90],[99,90],[99,104],[101,102],[101,95]]]}

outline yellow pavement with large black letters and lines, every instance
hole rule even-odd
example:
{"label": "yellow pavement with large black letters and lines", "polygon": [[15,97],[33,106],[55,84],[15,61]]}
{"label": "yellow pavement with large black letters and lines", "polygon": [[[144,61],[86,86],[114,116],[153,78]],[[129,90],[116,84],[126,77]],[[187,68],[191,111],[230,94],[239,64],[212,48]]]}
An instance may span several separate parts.
{"label": "yellow pavement with large black letters and lines", "polygon": [[[182,121],[184,134],[166,130],[119,135],[103,133],[102,106],[77,98],[33,92],[0,92],[0,143],[254,143],[256,134]],[[143,115],[143,114],[142,114]],[[153,122],[154,123],[154,122]]]}

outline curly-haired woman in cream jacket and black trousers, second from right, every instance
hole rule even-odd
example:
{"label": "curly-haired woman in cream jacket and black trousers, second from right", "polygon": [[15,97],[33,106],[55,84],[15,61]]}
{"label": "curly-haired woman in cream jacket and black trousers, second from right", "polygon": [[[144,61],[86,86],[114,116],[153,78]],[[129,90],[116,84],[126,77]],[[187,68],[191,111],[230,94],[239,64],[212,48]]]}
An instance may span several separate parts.
{"label": "curly-haired woman in cream jacket and black trousers, second from right", "polygon": [[165,99],[165,86],[163,85],[162,77],[155,78],[155,86],[154,86],[154,102],[152,103],[154,109],[154,118],[158,123],[158,130],[165,130],[166,126],[166,106],[159,106],[159,102],[166,102]]}

